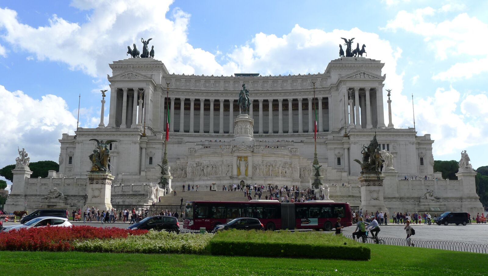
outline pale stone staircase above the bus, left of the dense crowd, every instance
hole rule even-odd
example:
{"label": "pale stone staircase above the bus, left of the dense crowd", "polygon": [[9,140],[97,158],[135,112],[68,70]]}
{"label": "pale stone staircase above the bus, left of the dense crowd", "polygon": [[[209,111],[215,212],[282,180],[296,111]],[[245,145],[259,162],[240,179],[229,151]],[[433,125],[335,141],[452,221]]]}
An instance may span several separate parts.
{"label": "pale stone staircase above the bus, left of the dense crowd", "polygon": [[[266,193],[267,194],[267,193]],[[157,205],[180,205],[181,198],[185,201],[247,201],[244,191],[176,191],[176,195],[167,194],[161,197]],[[264,194],[263,197],[264,199]]]}

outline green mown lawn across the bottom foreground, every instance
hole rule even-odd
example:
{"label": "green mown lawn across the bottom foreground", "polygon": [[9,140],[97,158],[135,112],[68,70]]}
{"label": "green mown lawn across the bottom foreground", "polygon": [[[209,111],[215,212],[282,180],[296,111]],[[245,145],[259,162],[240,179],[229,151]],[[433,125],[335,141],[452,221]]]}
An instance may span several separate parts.
{"label": "green mown lawn across the bottom foreground", "polygon": [[371,248],[369,261],[4,251],[0,252],[0,275],[481,276],[488,273],[488,255],[484,254],[376,244],[367,246]]}

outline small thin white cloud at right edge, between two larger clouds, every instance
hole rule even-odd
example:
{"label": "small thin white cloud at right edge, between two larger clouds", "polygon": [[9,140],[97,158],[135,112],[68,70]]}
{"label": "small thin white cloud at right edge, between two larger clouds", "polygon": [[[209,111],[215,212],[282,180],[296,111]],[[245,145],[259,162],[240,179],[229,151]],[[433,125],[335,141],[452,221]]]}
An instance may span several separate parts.
{"label": "small thin white cloud at right edge, between two larger clouds", "polygon": [[432,79],[450,82],[470,79],[474,75],[488,72],[487,64],[488,57],[479,60],[476,59],[467,63],[456,63],[446,71],[435,74],[432,76]]}

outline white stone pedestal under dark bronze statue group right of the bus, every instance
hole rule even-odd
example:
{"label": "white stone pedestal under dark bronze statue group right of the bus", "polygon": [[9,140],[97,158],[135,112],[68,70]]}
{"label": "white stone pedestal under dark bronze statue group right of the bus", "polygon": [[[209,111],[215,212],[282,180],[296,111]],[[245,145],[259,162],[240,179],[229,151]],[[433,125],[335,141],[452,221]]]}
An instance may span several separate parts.
{"label": "white stone pedestal under dark bronze statue group right of the bus", "polygon": [[365,173],[358,177],[361,183],[361,209],[363,212],[388,212],[385,206],[383,180],[385,176],[378,173]]}

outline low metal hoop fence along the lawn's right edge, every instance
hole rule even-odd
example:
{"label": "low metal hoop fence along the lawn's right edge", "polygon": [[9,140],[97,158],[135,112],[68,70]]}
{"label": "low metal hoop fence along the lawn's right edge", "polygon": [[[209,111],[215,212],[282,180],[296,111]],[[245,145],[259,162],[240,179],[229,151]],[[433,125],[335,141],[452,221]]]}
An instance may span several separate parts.
{"label": "low metal hoop fence along the lawn's right edge", "polygon": [[[347,238],[352,239],[352,235],[344,235]],[[385,241],[388,245],[401,245],[407,246],[407,240],[405,238],[393,238],[393,237],[379,237]],[[443,240],[416,240],[412,239],[415,247],[444,249],[452,251],[463,251],[473,253],[485,253],[488,254],[488,244],[479,243],[467,243],[461,241],[443,241]],[[366,239],[366,243],[374,243],[373,239]]]}

